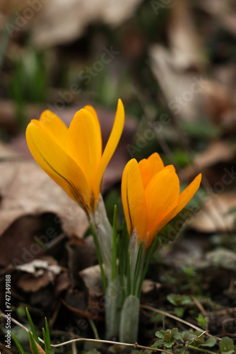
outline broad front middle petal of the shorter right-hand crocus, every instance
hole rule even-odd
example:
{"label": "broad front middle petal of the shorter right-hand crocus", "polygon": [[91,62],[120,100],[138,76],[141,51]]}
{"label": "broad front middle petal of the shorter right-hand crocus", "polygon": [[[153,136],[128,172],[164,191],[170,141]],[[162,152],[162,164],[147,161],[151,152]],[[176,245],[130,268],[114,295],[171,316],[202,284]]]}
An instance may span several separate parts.
{"label": "broad front middle petal of the shorter right-hand crocus", "polygon": [[148,183],[146,190],[148,205],[148,230],[153,230],[179,200],[179,178],[171,169],[157,173]]}

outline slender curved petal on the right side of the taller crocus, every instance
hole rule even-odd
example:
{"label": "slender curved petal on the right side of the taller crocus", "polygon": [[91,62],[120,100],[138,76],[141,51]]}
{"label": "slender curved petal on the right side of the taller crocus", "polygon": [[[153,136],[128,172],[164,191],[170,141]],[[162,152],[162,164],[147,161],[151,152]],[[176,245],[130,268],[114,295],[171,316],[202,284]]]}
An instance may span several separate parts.
{"label": "slender curved petal on the right side of the taller crocus", "polygon": [[112,127],[112,132],[108,139],[107,145],[102,154],[102,159],[100,161],[100,165],[98,167],[98,175],[97,175],[97,183],[98,190],[101,188],[102,176],[109,163],[112,155],[114,154],[114,150],[117,148],[120,137],[122,136],[122,131],[124,128],[124,105],[122,100],[118,100],[117,104],[117,113],[114,118],[114,124]]}

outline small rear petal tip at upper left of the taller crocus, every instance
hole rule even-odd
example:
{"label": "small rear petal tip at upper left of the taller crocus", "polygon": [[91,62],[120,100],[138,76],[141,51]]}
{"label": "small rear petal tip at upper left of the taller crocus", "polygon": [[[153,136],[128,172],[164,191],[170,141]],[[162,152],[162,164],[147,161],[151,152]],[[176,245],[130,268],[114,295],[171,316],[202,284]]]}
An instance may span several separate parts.
{"label": "small rear petal tip at upper left of the taller crocus", "polygon": [[54,139],[56,139],[57,143],[63,147],[68,131],[65,123],[51,110],[44,110],[40,115],[39,122],[40,125],[42,125],[42,128],[49,130],[54,136]]}

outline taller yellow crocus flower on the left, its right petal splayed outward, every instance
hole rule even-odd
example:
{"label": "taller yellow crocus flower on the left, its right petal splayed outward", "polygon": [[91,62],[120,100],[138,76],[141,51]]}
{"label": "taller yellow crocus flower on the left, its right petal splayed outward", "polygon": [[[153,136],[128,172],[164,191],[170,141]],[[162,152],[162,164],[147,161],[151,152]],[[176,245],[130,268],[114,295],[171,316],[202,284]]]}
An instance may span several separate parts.
{"label": "taller yellow crocus flower on the left, its right petal splayed outward", "polygon": [[26,140],[37,164],[85,210],[95,210],[102,176],[124,128],[124,106],[119,99],[110,138],[102,153],[100,122],[93,107],[78,110],[69,128],[45,110],[31,120]]}

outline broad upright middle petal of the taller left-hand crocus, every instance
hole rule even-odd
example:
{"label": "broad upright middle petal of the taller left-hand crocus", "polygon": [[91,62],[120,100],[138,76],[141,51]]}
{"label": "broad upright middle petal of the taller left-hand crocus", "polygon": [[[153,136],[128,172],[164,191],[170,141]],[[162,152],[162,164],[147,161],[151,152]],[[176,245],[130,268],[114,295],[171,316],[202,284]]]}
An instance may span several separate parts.
{"label": "broad upright middle petal of the taller left-hand crocus", "polygon": [[81,109],[74,115],[68,130],[67,151],[86,176],[90,193],[96,193],[102,137],[98,122],[89,110]]}

